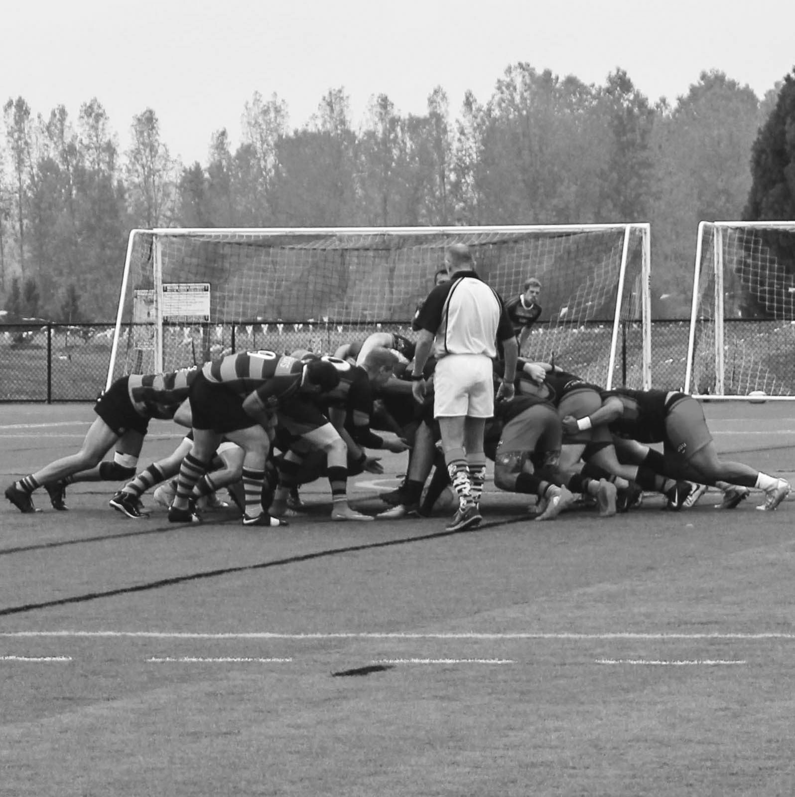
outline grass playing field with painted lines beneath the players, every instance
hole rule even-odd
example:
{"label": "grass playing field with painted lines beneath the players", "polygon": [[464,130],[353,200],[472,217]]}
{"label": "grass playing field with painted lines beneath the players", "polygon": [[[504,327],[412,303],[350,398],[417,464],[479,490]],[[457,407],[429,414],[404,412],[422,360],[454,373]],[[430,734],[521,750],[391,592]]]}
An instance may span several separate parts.
{"label": "grass playing field with painted lines beneath the players", "polygon": [[[706,406],[719,450],[793,478],[789,405]],[[14,477],[90,407],[0,407]],[[173,450],[157,422],[142,465]],[[382,508],[405,457],[357,477]],[[174,526],[73,485],[0,506],[3,795],[791,795],[793,497],[733,512]],[[152,502],[149,501],[149,504]]]}

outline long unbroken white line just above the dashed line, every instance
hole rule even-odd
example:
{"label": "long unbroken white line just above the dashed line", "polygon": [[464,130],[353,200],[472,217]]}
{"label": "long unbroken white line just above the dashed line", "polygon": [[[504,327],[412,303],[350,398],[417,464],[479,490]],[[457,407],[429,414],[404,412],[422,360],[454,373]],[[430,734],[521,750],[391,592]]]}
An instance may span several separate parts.
{"label": "long unbroken white line just above the dashed line", "polygon": [[740,633],[695,633],[695,634],[666,634],[666,633],[644,633],[632,631],[616,631],[601,634],[574,634],[574,633],[555,633],[555,632],[505,632],[488,633],[477,631],[466,631],[462,633],[425,633],[413,634],[404,632],[370,632],[370,631],[339,631],[328,633],[307,633],[307,634],[288,634],[280,631],[250,631],[240,633],[212,633],[204,631],[80,631],[80,630],[27,630],[27,631],[0,631],[0,638],[137,638],[137,639],[288,639],[301,641],[323,640],[323,639],[444,639],[444,640],[491,640],[497,642],[520,641],[524,639],[549,639],[561,642],[581,642],[589,640],[670,640],[672,642],[680,640],[755,640],[755,639],[780,639],[795,641],[795,634],[770,631],[758,634]]}

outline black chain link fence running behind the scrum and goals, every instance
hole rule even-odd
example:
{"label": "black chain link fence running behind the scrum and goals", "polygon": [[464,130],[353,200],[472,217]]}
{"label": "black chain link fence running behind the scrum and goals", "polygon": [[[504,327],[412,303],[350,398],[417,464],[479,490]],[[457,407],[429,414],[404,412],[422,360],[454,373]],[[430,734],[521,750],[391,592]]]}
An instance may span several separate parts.
{"label": "black chain link fence running behind the scrum and goals", "polygon": [[[765,338],[770,357],[778,363],[779,381],[795,395],[795,325],[753,322],[754,338]],[[414,340],[410,324],[212,324],[204,327],[173,327],[164,331],[171,340],[165,367],[185,367],[212,359],[225,351],[268,349],[289,353],[296,349],[333,353],[340,345],[364,340],[371,332],[399,332]],[[589,363],[609,351],[610,324],[593,324],[578,334],[578,344],[561,355],[555,364],[566,371],[582,373]],[[543,326],[534,329],[531,352]],[[539,336],[539,337],[536,337]],[[681,389],[687,360],[688,323],[685,320],[652,324],[652,383],[655,387]],[[130,324],[119,340],[119,363],[123,350],[141,337]],[[0,326],[0,402],[88,402],[104,388],[113,340],[112,324],[3,324]],[[613,385],[640,387],[642,332],[640,324],[623,324]],[[135,359],[119,365],[114,376],[136,371]],[[140,371],[138,371],[140,372]]]}

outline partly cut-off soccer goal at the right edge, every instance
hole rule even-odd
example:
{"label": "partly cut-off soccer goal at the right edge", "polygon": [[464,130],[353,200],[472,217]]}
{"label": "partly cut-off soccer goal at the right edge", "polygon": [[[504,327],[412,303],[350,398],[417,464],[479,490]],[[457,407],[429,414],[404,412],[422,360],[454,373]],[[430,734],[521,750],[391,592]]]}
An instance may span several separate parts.
{"label": "partly cut-off soccer goal at the right edge", "polygon": [[795,398],[795,222],[701,222],[684,390]]}

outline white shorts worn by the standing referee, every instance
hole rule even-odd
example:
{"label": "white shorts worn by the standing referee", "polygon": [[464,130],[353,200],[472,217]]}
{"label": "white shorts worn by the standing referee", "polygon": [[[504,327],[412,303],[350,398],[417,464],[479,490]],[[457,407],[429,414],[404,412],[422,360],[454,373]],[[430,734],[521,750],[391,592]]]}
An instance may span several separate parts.
{"label": "white shorts worn by the standing referee", "polygon": [[448,354],[433,371],[434,418],[491,418],[494,374],[483,354]]}

